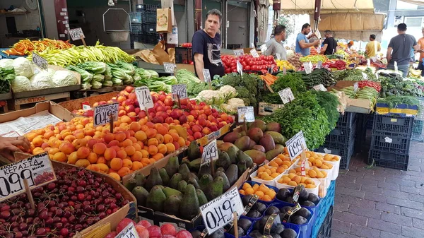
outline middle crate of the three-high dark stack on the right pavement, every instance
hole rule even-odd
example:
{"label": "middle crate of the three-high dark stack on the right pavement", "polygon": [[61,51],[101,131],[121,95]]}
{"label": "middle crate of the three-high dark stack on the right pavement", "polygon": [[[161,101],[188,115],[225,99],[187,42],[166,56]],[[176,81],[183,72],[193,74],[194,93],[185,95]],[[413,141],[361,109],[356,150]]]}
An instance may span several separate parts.
{"label": "middle crate of the three-high dark stack on the right pavement", "polygon": [[380,150],[391,153],[399,153],[401,155],[409,155],[410,147],[411,139],[408,138],[379,135],[372,135],[371,138],[371,150]]}

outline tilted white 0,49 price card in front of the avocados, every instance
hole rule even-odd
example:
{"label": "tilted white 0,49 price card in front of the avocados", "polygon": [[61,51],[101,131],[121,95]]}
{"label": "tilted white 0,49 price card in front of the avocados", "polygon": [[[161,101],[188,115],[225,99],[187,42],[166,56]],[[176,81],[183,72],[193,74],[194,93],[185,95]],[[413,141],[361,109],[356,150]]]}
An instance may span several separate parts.
{"label": "tilted white 0,49 price card in front of the avocados", "polygon": [[237,212],[237,216],[245,211],[242,199],[237,187],[233,187],[225,194],[200,206],[200,213],[206,225],[208,234],[212,234],[220,227],[230,223],[234,218],[232,213]]}

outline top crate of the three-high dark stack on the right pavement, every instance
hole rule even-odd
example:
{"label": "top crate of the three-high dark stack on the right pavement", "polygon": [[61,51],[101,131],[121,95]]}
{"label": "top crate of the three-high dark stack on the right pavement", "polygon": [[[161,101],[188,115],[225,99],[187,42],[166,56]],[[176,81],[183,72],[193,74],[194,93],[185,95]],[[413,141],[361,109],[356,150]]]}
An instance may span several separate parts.
{"label": "top crate of the three-high dark stack on the right pavement", "polygon": [[400,117],[397,115],[374,115],[372,124],[373,134],[403,133],[411,136],[413,128],[413,117]]}

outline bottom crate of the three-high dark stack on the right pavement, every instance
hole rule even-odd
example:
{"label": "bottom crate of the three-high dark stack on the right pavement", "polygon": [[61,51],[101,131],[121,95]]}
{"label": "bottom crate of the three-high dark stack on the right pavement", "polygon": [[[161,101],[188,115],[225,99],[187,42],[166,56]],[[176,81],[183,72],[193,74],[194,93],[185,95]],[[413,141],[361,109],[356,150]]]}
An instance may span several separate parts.
{"label": "bottom crate of the three-high dark stack on the right pavement", "polygon": [[399,155],[397,153],[389,153],[379,150],[370,150],[368,154],[368,164],[372,162],[377,166],[388,167],[392,169],[408,169],[409,155]]}

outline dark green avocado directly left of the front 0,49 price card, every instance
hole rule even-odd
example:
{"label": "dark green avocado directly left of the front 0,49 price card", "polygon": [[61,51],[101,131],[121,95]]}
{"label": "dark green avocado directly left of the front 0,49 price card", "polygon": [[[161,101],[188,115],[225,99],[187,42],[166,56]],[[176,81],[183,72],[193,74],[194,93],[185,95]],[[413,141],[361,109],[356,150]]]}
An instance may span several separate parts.
{"label": "dark green avocado directly left of the front 0,49 price card", "polygon": [[199,199],[192,184],[187,184],[184,197],[179,204],[179,214],[182,219],[192,220],[199,214]]}

